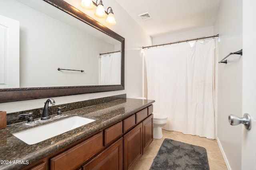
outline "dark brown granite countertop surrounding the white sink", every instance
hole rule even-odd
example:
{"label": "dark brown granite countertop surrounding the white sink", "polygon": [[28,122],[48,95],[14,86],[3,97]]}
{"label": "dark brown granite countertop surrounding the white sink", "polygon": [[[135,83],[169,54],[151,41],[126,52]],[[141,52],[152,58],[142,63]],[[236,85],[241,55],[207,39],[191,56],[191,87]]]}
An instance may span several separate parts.
{"label": "dark brown granite countertop surrounding the white sink", "polygon": [[[153,103],[154,100],[124,98],[63,112],[63,116],[58,118],[52,115],[52,119],[43,123],[26,125],[26,122],[21,122],[8,125],[5,129],[0,130],[0,170],[24,168],[28,164],[32,164],[82,138],[88,137],[100,129],[120,121]],[[30,129],[40,124],[58,121],[73,115],[96,119],[96,121],[34,145],[28,145],[12,135],[12,133]],[[16,161],[18,161],[17,164]]]}

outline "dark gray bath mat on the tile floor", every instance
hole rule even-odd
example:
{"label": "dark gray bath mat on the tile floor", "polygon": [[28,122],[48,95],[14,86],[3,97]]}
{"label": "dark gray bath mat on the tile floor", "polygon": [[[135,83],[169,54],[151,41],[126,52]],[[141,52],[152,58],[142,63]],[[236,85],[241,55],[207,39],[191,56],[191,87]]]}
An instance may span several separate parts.
{"label": "dark gray bath mat on the tile floor", "polygon": [[210,170],[206,149],[164,139],[150,170]]}

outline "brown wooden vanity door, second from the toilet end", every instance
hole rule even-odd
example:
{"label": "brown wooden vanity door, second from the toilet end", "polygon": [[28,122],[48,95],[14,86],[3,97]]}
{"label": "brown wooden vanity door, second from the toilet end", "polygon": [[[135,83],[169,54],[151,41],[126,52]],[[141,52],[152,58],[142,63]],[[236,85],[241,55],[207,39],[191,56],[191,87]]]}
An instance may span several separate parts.
{"label": "brown wooden vanity door, second from the toilet end", "polygon": [[142,156],[142,123],[124,135],[124,170],[131,169]]}

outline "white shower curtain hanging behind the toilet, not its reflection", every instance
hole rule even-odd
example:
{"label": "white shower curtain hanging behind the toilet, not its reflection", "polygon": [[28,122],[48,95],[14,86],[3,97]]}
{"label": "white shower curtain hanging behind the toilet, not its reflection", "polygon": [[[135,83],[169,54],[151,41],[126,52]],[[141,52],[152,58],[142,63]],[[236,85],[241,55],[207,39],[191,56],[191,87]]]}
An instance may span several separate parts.
{"label": "white shower curtain hanging behind the toilet, not its reflection", "polygon": [[145,50],[148,99],[163,129],[215,139],[214,39]]}

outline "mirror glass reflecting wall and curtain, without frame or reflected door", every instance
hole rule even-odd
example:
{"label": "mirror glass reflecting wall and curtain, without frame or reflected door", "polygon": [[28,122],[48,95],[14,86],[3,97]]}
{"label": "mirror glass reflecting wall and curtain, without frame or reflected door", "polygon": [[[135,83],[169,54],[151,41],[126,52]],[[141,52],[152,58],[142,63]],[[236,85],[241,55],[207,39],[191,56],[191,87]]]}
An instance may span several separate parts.
{"label": "mirror glass reflecting wall and curtain, without frame or reflected door", "polygon": [[8,0],[0,15],[20,22],[20,88],[121,84],[120,41],[42,0]]}

